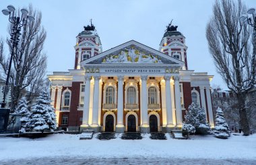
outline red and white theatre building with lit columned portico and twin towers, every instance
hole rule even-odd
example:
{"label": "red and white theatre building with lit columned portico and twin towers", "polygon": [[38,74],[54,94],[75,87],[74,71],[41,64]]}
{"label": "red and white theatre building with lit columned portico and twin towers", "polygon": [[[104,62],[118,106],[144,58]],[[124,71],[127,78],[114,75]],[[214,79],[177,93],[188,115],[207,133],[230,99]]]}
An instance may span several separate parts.
{"label": "red and white theatre building with lit columned portico and twin towers", "polygon": [[214,126],[213,76],[188,69],[192,57],[177,26],[167,26],[159,51],[135,40],[102,51],[92,24],[74,48],[74,68],[48,75],[59,129],[170,132],[182,127],[191,102]]}

